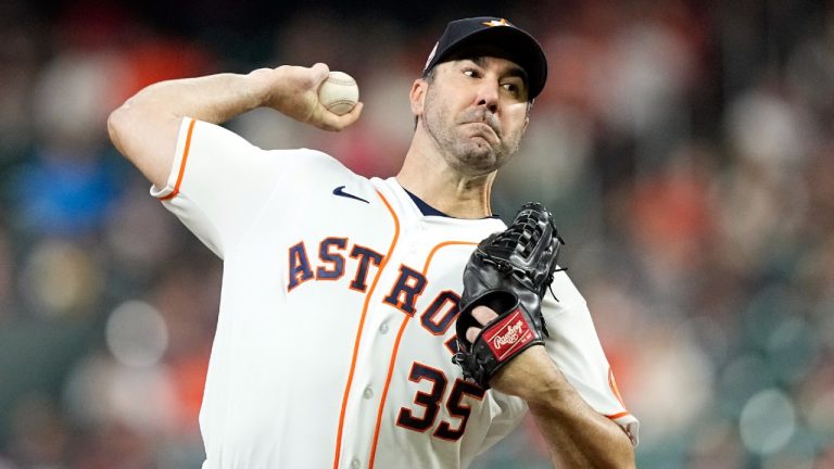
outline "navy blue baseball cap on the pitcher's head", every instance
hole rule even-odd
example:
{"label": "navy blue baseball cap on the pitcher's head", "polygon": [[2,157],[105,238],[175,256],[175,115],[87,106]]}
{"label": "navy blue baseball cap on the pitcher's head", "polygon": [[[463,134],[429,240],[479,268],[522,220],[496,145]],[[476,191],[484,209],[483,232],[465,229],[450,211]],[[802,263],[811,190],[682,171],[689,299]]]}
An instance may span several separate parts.
{"label": "navy blue baseball cap on the pitcher's head", "polygon": [[538,97],[547,81],[547,59],[542,47],[529,33],[510,22],[494,16],[455,20],[434,45],[426,61],[426,76],[439,63],[459,58],[467,51],[489,47],[517,63],[527,73],[528,98]]}

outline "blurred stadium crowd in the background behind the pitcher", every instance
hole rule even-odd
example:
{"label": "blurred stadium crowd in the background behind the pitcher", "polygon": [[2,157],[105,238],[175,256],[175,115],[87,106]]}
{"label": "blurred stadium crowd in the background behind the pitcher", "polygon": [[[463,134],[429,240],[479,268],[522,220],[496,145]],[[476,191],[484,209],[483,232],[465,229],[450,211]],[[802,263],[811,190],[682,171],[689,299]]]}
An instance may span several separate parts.
{"label": "blurred stadium crowd in the background behind the pitcher", "polygon": [[[639,467],[834,468],[830,1],[168,3],[0,0],[0,469],[202,461],[222,264],[110,144],[111,110],[161,79],[325,62],[359,81],[354,127],[229,127],[390,176],[433,41],[480,14],[549,61],[493,208],[556,214]],[[476,467],[548,466],[528,421]]]}

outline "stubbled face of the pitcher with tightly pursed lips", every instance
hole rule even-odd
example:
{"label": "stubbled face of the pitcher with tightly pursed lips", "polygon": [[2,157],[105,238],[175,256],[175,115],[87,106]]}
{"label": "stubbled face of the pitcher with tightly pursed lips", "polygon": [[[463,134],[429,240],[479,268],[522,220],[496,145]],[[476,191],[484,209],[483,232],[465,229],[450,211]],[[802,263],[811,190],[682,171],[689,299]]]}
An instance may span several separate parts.
{"label": "stubbled face of the pitcher with tightly pursed lips", "polygon": [[516,152],[528,122],[523,71],[479,56],[437,65],[421,125],[455,169],[471,176],[500,168]]}

